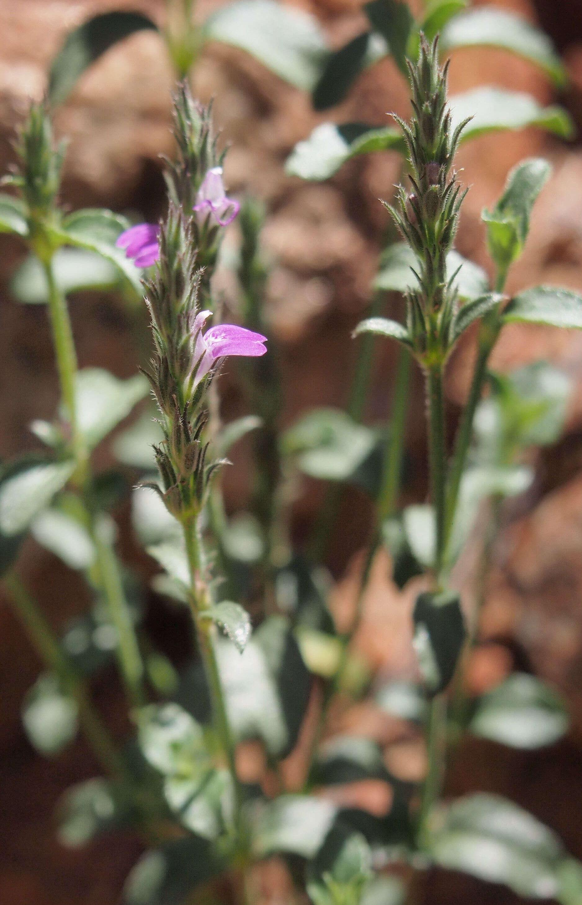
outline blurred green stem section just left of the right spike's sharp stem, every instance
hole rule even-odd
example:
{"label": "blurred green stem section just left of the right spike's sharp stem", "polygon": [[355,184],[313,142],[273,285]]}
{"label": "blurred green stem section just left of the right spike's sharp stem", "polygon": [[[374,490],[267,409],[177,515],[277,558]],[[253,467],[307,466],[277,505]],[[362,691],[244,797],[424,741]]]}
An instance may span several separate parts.
{"label": "blurred green stem section just left of the right spike's sharp stem", "polygon": [[400,490],[400,475],[405,445],[406,411],[408,408],[408,389],[412,357],[404,348],[398,351],[396,365],[396,385],[390,424],[387,430],[386,453],[382,470],[382,482],[377,500],[377,526],[384,519],[394,515],[396,500]]}

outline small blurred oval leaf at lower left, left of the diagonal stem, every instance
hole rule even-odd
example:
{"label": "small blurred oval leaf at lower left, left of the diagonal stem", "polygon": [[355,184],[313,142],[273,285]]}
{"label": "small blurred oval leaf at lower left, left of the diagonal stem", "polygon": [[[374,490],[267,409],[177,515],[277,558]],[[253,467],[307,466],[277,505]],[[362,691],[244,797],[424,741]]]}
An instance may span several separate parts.
{"label": "small blurred oval leaf at lower left, left of the diagonal stem", "polygon": [[26,693],[22,716],[31,745],[46,757],[60,754],[79,729],[77,702],[52,672],[43,672]]}

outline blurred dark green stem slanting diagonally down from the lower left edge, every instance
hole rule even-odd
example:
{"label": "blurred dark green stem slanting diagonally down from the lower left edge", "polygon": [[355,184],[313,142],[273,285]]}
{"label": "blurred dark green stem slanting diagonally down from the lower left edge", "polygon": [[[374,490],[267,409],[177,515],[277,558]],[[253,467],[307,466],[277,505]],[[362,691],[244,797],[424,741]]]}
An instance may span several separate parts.
{"label": "blurred dark green stem slanting diagonally down from the lower left edge", "polygon": [[83,734],[95,757],[110,776],[124,778],[126,770],[110,734],[93,708],[81,677],[63,652],[39,605],[14,572],[5,576],[4,580],[14,610],[24,624],[28,637],[43,662],[56,673],[62,688],[77,702]]}

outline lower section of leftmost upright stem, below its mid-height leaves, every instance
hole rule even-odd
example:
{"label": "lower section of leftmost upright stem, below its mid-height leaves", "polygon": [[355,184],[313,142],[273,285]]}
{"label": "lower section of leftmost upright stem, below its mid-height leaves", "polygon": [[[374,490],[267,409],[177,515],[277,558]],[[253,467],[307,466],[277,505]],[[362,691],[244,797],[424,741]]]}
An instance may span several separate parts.
{"label": "lower section of leftmost upright stem, below its mid-height leaves", "polygon": [[118,634],[119,668],[129,700],[134,707],[140,707],[145,702],[142,686],[143,662],[121,582],[119,561],[113,549],[112,538],[109,536],[112,533],[112,526],[107,522],[101,520],[93,524],[91,538],[97,553],[100,586],[109,607],[111,621]]}

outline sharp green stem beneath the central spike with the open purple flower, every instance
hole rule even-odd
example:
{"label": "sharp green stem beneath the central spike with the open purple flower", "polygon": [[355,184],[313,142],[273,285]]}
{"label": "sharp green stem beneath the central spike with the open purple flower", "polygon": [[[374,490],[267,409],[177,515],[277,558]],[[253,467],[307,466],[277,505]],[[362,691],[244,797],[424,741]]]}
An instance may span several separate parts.
{"label": "sharp green stem beneath the central spike with the open purple flower", "polygon": [[[210,598],[205,576],[206,563],[204,545],[198,529],[196,516],[186,518],[183,522],[183,528],[184,539],[186,542],[186,556],[191,579],[191,593],[189,595],[190,609],[196,629],[196,640],[200,656],[202,657],[206,681],[208,683],[208,690],[210,691],[212,719],[216,736],[233,779],[234,826],[237,833],[240,834],[243,795],[238,776],[236,775],[234,738],[226,712],[224,691],[220,672],[218,670],[218,662],[216,661],[214,645],[215,625],[212,620],[204,617],[204,611],[210,608],[212,600]],[[239,838],[239,842],[240,841]]]}

